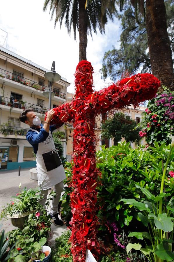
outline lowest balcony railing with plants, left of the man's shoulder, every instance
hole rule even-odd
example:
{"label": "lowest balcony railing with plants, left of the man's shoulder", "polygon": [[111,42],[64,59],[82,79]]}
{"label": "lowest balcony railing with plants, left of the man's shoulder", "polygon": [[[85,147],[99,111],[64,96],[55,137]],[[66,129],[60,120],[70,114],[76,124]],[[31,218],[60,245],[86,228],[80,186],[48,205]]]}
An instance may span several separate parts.
{"label": "lowest balcony railing with plants, left of the man's shoulder", "polygon": [[15,135],[15,136],[25,136],[28,132],[29,128],[20,128],[15,127],[7,124],[0,125],[0,134],[3,134],[5,137],[8,135]]}

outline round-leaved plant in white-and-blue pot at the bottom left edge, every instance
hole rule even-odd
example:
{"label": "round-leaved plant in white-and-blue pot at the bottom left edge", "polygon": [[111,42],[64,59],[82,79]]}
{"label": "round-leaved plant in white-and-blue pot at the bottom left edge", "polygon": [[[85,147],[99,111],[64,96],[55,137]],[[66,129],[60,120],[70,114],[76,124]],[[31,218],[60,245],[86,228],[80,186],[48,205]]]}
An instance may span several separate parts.
{"label": "round-leaved plant in white-and-blue pot at the bottom left edge", "polygon": [[10,253],[10,261],[44,261],[48,262],[51,257],[51,248],[46,246],[47,238],[43,237],[39,242],[29,235],[20,236],[16,248]]}

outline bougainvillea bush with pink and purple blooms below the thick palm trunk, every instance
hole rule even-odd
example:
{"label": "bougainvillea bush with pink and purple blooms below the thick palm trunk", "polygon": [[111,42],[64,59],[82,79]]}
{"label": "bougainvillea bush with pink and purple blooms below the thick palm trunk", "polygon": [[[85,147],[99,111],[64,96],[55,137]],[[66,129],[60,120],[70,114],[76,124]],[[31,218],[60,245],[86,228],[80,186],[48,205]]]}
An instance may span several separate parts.
{"label": "bougainvillea bush with pink and purple blooms below the thick palm trunk", "polygon": [[169,136],[174,131],[174,93],[165,87],[163,89],[164,93],[149,101],[141,123],[139,135],[150,145],[154,141],[170,143]]}

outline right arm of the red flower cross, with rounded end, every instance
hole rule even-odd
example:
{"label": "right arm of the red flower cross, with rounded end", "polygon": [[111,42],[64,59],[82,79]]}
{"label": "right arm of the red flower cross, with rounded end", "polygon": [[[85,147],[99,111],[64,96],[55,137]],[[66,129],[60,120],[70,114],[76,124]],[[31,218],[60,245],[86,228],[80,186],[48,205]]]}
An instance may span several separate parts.
{"label": "right arm of the red flower cross, with rounded end", "polygon": [[140,102],[152,99],[159,86],[159,79],[153,75],[137,74],[89,95],[87,100],[93,104],[95,115],[131,104],[136,108]]}

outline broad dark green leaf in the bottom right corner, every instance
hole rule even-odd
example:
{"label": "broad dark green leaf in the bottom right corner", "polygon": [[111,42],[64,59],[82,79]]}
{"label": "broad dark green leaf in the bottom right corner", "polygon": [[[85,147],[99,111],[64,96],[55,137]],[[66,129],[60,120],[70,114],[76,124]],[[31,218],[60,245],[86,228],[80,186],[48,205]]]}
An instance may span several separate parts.
{"label": "broad dark green leaf in the bottom right corner", "polygon": [[159,245],[157,245],[154,253],[160,259],[164,259],[167,261],[172,261],[174,259],[174,253],[168,250],[168,244],[165,241],[162,241]]}

